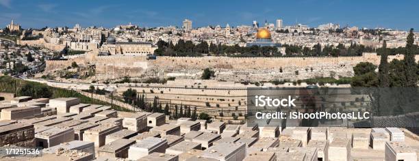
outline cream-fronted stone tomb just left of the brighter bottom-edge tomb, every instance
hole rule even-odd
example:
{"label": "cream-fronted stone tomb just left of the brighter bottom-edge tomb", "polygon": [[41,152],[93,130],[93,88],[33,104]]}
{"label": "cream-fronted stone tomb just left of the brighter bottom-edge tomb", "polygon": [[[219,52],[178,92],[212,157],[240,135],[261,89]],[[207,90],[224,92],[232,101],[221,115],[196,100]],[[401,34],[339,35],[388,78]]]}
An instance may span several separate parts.
{"label": "cream-fronted stone tomb just left of the brighter bottom-edge tomb", "polygon": [[116,157],[116,158],[128,158],[129,146],[136,143],[125,138],[119,138],[111,143],[106,143],[102,147],[99,147],[99,156]]}

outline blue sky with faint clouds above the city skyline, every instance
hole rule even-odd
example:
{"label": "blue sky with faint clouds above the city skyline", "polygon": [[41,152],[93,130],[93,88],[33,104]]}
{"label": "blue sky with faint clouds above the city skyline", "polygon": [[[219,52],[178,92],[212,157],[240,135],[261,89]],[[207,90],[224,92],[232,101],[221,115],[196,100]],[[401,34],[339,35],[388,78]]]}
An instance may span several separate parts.
{"label": "blue sky with faint clouds above the city skyline", "polygon": [[341,26],[419,29],[419,1],[390,0],[0,0],[0,27],[13,18],[24,28],[114,27],[129,22],[141,27],[181,26],[189,18],[193,27],[251,25],[253,20],[284,25],[296,21],[311,27],[324,23]]}

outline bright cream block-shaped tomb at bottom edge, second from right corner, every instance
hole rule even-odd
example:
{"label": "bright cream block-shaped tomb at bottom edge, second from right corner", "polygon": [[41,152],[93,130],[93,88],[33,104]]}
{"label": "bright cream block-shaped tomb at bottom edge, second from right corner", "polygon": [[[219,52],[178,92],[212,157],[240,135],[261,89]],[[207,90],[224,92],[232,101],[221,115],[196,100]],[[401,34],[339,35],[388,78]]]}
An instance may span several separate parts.
{"label": "bright cream block-shaped tomb at bottom edge, second from right corner", "polygon": [[[329,160],[351,160],[351,142],[348,138],[334,138],[329,144]],[[336,155],[339,154],[339,155]]]}

